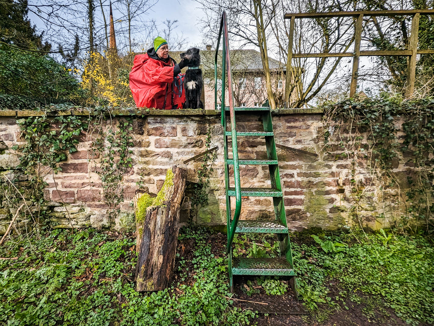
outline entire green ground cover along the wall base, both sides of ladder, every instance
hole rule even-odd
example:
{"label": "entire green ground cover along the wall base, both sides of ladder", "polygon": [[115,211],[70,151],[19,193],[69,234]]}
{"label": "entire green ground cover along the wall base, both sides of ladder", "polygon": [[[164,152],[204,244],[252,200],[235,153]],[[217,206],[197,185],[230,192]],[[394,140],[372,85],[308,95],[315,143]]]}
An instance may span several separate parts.
{"label": "entire green ground cover along the wall base, both sides of ladder", "polygon": [[[426,236],[305,232],[292,239],[301,302],[310,313],[293,316],[294,324],[326,322],[356,306],[377,324],[434,323],[434,245]],[[233,296],[225,242],[223,233],[181,229],[173,286],[137,293],[133,233],[56,229],[16,236],[1,249],[7,259],[0,260],[0,324],[280,324],[237,299],[287,300],[287,281],[248,278],[236,283]],[[238,235],[234,243],[238,256],[278,254],[270,235]]]}

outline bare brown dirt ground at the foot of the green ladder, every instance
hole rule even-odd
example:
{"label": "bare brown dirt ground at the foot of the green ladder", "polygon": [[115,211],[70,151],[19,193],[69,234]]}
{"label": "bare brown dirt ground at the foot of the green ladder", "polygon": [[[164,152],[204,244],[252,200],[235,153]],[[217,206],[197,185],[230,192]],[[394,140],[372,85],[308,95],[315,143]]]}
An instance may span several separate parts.
{"label": "bare brown dirt ground at the foot of the green ladder", "polygon": [[[212,246],[212,253],[216,257],[224,255],[226,235],[214,233],[210,235],[208,243]],[[178,242],[177,252],[181,257],[192,258],[194,252],[194,239],[186,239]],[[178,268],[175,268],[177,271]],[[175,274],[175,279],[177,275]],[[342,302],[336,301],[335,307],[320,306],[319,310],[311,313],[307,311],[302,301],[297,301],[293,292],[289,289],[284,295],[245,294],[241,288],[247,280],[253,281],[255,277],[234,277],[234,305],[242,309],[258,311],[259,318],[255,319],[258,326],[404,326],[408,325],[398,318],[395,313],[378,304],[369,297],[362,296],[362,303],[345,300],[346,307]],[[193,279],[187,278],[183,283],[190,284]],[[333,293],[335,292],[335,293]],[[332,289],[331,297],[339,294],[336,286]]]}

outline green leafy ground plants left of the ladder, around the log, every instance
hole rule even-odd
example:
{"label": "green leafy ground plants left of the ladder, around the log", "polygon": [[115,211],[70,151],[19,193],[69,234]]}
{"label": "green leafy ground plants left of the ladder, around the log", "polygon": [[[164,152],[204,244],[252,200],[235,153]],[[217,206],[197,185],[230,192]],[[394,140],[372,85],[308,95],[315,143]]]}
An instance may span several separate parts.
{"label": "green leafy ground plants left of the ladder, around the log", "polygon": [[0,261],[0,323],[15,325],[248,325],[232,306],[227,260],[211,254],[209,232],[184,229],[193,255],[180,258],[173,287],[138,293],[134,234],[89,229],[42,232],[7,242]]}

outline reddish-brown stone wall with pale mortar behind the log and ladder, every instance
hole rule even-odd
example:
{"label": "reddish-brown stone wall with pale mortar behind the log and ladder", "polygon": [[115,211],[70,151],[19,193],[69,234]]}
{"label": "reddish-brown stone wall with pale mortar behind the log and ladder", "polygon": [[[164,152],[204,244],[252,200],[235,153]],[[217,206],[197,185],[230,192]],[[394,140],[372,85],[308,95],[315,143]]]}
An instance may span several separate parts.
{"label": "reddish-brown stone wall with pale mortar behind the log and ladder", "polygon": [[[137,113],[137,111],[134,111]],[[16,123],[21,116],[41,114],[20,111],[0,111],[0,170],[2,178],[14,182],[26,182],[23,171],[16,169],[18,155],[13,145],[23,143],[23,136]],[[72,111],[62,114],[83,115],[89,112]],[[117,116],[107,117],[104,128],[117,126],[131,112],[118,112]],[[137,113],[141,115],[142,113]],[[52,174],[47,171],[44,180],[44,209],[54,226],[112,226],[117,229],[133,225],[132,198],[141,183],[142,190],[157,193],[169,167],[178,165],[188,171],[186,200],[182,207],[181,221],[192,218],[200,224],[226,224],[224,193],[223,129],[219,113],[212,110],[151,111],[145,116],[133,118],[134,146],[132,168],[125,173],[120,187],[123,200],[112,207],[104,202],[102,182],[96,173],[101,157],[93,153],[95,135],[83,132],[79,136],[78,152],[69,155],[61,163],[62,171]],[[55,126],[53,126],[54,128]],[[261,120],[253,115],[240,114],[237,118],[238,131],[263,130]],[[273,128],[276,143],[317,153],[310,155],[278,148],[279,168],[288,225],[290,229],[321,227],[336,229],[342,226],[362,225],[374,229],[388,226],[394,217],[394,203],[386,205],[381,200],[381,190],[373,181],[368,168],[354,176],[350,161],[336,159],[335,155],[322,151],[321,110],[276,110],[273,113]],[[202,161],[183,161],[205,151],[207,132],[211,134],[210,147],[218,146],[214,173],[210,178],[209,204],[201,207],[197,215],[191,216],[191,185],[198,181],[197,169]],[[266,158],[265,142],[259,137],[239,138],[240,158]],[[92,154],[93,153],[93,154]],[[93,157],[92,157],[93,155]],[[398,164],[397,172],[405,173],[408,167]],[[267,166],[243,166],[240,169],[242,187],[270,187]],[[233,178],[233,174],[231,174]],[[370,184],[369,195],[358,204],[358,217],[349,213],[354,203],[352,181],[359,178],[363,184]],[[404,193],[401,189],[401,193]],[[5,199],[2,198],[3,203]],[[385,215],[382,213],[386,213]],[[273,218],[272,201],[266,197],[243,197],[241,218]],[[6,226],[11,213],[4,207],[0,211],[0,225]],[[4,229],[4,227],[3,227]],[[0,232],[2,228],[0,227]],[[4,230],[3,230],[4,232]]]}

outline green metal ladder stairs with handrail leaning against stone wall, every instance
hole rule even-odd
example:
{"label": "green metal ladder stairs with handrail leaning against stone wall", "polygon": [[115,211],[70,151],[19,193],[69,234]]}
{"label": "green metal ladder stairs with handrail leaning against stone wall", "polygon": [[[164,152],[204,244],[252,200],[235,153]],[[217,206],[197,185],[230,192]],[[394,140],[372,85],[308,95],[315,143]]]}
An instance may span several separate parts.
{"label": "green metal ladder stairs with handrail leaning against stone wall", "polygon": [[[217,40],[216,53],[214,58],[215,88],[214,105],[217,109],[217,55],[220,47],[220,39],[223,36],[223,60],[222,60],[222,96],[221,96],[221,124],[224,130],[224,176],[226,184],[226,216],[227,216],[227,248],[229,255],[228,272],[230,290],[233,292],[233,275],[270,275],[289,276],[289,284],[295,295],[296,281],[289,241],[289,231],[286,224],[286,213],[283,204],[283,191],[280,184],[279,165],[274,142],[273,124],[269,107],[234,107],[232,74],[230,69],[229,38],[227,30],[226,13],[223,12],[220,21],[220,32]],[[225,71],[228,79],[229,107],[225,107]],[[227,131],[226,116],[230,113],[230,131]],[[235,123],[235,112],[250,111],[251,114],[262,116],[263,131],[260,132],[237,132]],[[266,160],[244,160],[238,159],[237,137],[257,136],[265,137],[267,159]],[[228,158],[228,141],[232,140],[232,158]],[[229,166],[233,165],[235,187],[229,185]],[[270,171],[271,188],[241,188],[240,187],[240,165],[268,165]],[[251,221],[240,220],[241,197],[273,197],[275,221]],[[235,210],[231,215],[230,200],[235,197]],[[232,242],[236,232],[240,233],[276,233],[279,241],[279,258],[233,258]]]}

